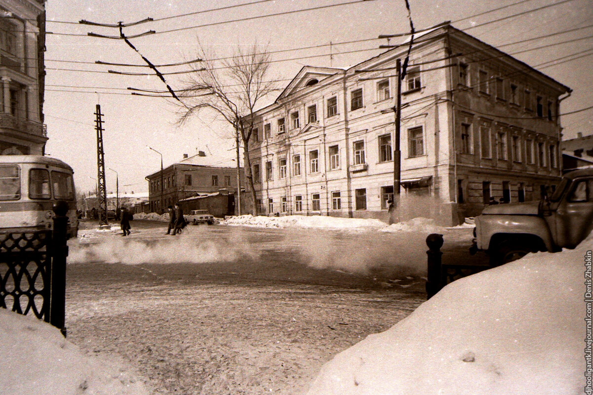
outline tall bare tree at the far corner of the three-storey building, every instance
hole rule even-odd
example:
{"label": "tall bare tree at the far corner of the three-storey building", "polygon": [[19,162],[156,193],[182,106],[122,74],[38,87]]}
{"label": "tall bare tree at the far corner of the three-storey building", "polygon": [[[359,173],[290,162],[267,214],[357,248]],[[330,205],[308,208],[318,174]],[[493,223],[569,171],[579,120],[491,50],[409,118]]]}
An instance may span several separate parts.
{"label": "tall bare tree at the far corner of the three-storey building", "polygon": [[206,111],[232,125],[235,136],[238,135],[243,142],[244,173],[255,215],[256,192],[249,142],[253,136],[256,106],[261,105],[262,99],[270,92],[277,90],[273,82],[266,81],[269,80],[270,54],[265,49],[258,50],[257,44],[247,50],[237,46],[232,57],[218,62],[214,60],[215,54],[201,45],[199,52],[203,62],[193,66],[194,72],[187,78],[184,89],[178,92],[178,96],[183,98],[178,123],[183,124],[193,115]]}

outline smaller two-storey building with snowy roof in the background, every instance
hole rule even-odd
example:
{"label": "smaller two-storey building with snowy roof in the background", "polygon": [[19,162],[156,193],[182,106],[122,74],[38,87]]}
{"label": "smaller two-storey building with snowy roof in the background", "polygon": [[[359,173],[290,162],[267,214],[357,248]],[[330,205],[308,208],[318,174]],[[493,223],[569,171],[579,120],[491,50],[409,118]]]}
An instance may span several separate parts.
{"label": "smaller two-storey building with snowy roof in the background", "polygon": [[194,156],[184,154],[183,160],[162,169],[162,173],[158,171],[146,176],[149,210],[163,213],[168,205],[182,199],[221,190],[235,195],[237,174],[241,185],[245,185],[243,168],[237,169],[234,159],[207,156],[203,151]]}

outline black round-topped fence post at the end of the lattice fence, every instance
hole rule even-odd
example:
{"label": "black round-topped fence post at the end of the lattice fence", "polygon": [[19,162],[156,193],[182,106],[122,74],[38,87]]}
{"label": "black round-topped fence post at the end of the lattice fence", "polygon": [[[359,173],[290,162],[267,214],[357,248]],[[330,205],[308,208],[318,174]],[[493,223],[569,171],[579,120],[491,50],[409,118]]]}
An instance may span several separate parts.
{"label": "black round-topped fence post at the end of the lattice fence", "polygon": [[60,329],[66,337],[66,244],[68,233],[68,203],[63,200],[53,204],[52,231],[52,296],[50,305],[50,324]]}

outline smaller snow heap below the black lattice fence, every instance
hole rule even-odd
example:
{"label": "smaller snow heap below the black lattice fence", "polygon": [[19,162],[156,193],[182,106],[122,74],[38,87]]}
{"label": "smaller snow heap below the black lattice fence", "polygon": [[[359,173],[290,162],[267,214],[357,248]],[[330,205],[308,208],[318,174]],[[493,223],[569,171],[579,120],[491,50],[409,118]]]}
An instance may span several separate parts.
{"label": "smaller snow heap below the black lattice fence", "polygon": [[113,361],[83,354],[55,327],[0,308],[0,394],[148,395]]}

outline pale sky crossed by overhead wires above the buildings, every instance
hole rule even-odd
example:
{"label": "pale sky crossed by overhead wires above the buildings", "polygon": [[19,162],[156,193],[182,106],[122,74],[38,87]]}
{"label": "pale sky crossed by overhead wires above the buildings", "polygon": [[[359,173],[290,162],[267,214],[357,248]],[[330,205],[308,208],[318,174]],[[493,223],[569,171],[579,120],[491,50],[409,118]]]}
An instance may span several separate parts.
{"label": "pale sky crossed by overhead wires above the buildings", "polygon": [[[593,85],[589,82],[593,75],[592,0],[409,3],[417,30],[452,21],[454,27],[514,54],[528,65],[544,64],[537,69],[573,89],[562,102],[561,113],[593,106]],[[298,11],[309,8],[315,9]],[[238,46],[257,44],[272,52],[270,79],[277,82],[279,94],[302,66],[354,65],[384,51],[378,47],[387,41],[379,40],[380,34],[405,33],[410,26],[404,0],[47,0],[46,10],[47,31],[51,32],[46,37],[45,54],[46,153],[74,168],[78,192],[95,190],[97,104],[104,114],[107,192],[115,191],[116,176],[120,192],[148,190],[145,176],[160,169],[161,157],[146,146],[162,154],[165,167],[181,160],[184,153],[194,155],[198,150],[221,160],[235,156],[231,127],[213,114],[199,114],[178,126],[178,107],[173,99],[135,96],[127,89],[166,89],[157,76],[109,73],[150,74],[150,69],[97,65],[97,60],[145,65],[142,54],[155,65],[166,65],[195,59],[199,45],[224,57]],[[78,23],[133,23],[145,18],[154,21],[124,29],[127,36],[156,32],[131,40],[139,53],[123,40],[87,35],[118,36],[117,28]],[[554,35],[542,37],[550,34]],[[537,39],[508,45],[527,38]],[[345,41],[358,42],[343,44]],[[303,49],[311,46],[316,48]],[[159,70],[183,72],[189,66],[163,66]],[[183,73],[164,77],[175,90],[182,89],[187,81]],[[270,95],[262,107],[275,98],[276,94]],[[565,138],[576,137],[578,132],[591,134],[591,115],[593,109],[562,116]]]}

